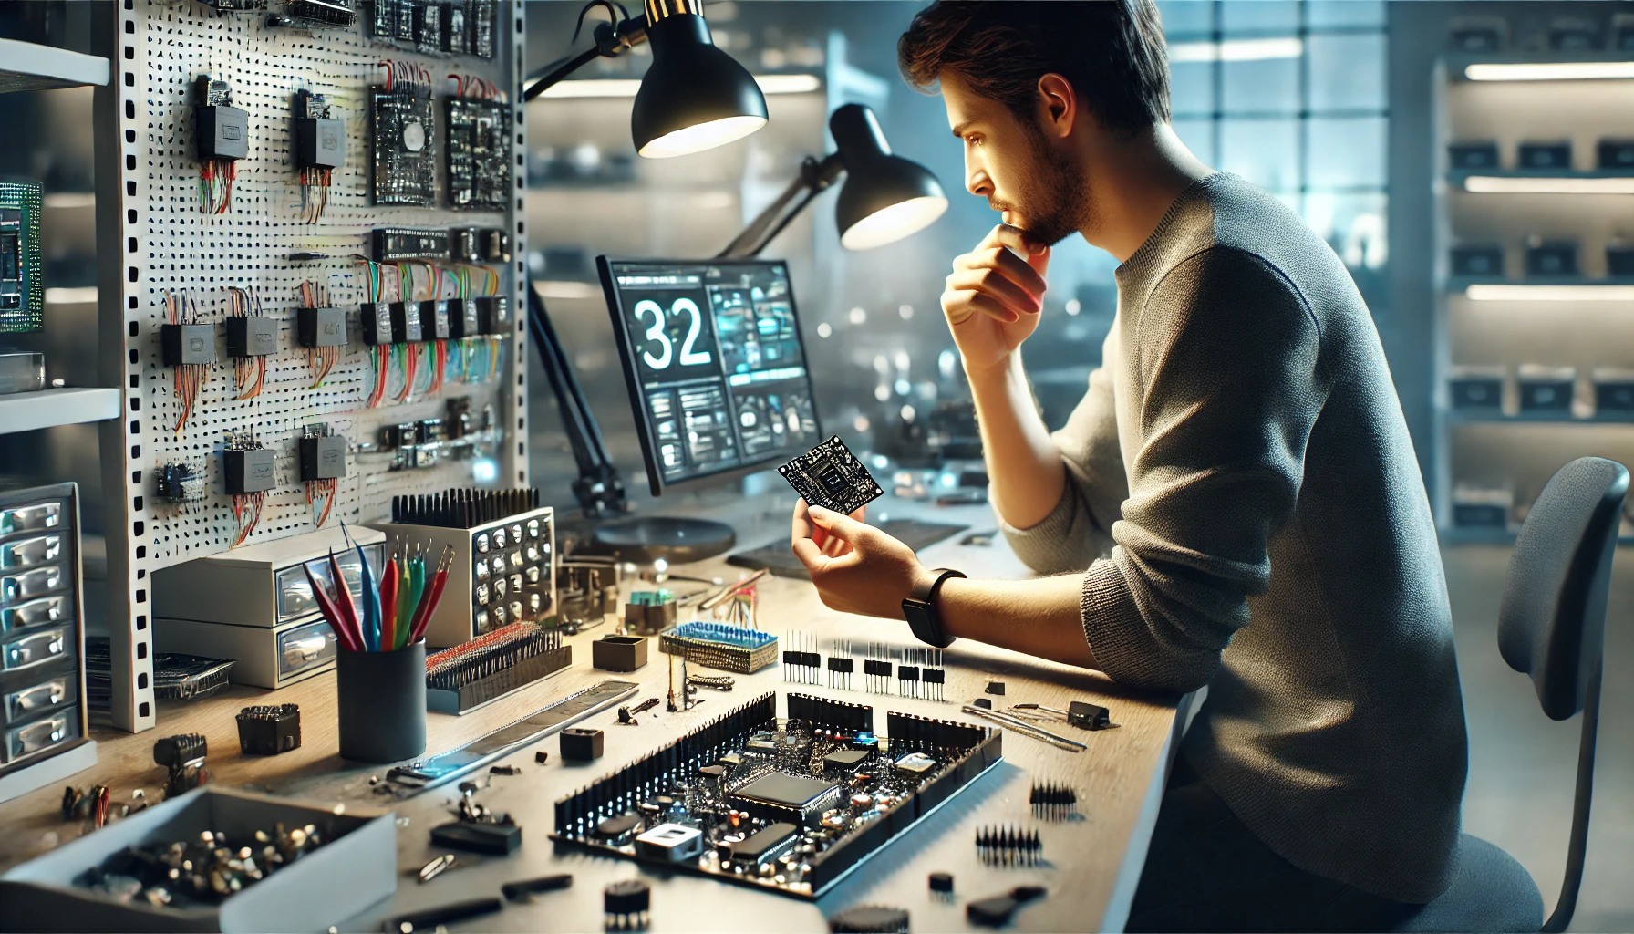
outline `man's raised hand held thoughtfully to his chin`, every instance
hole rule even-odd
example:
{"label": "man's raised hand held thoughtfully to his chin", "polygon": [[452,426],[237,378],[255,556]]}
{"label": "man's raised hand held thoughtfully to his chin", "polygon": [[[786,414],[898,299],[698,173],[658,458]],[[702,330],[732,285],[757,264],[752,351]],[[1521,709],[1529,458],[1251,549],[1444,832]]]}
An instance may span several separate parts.
{"label": "man's raised hand held thoughtfully to his chin", "polygon": [[1044,309],[1047,268],[1049,247],[1010,224],[998,224],[974,250],[953,260],[941,311],[967,370],[1007,361],[1031,337]]}

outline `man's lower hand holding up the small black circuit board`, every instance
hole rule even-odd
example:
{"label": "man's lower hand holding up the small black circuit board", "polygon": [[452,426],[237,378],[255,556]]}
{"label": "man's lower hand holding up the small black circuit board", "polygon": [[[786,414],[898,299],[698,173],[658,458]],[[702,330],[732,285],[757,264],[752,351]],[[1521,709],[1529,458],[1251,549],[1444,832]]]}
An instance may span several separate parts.
{"label": "man's lower hand holding up the small black circuit board", "polygon": [[794,556],[806,564],[825,607],[842,613],[900,620],[902,600],[930,571],[907,545],[851,515],[794,505]]}

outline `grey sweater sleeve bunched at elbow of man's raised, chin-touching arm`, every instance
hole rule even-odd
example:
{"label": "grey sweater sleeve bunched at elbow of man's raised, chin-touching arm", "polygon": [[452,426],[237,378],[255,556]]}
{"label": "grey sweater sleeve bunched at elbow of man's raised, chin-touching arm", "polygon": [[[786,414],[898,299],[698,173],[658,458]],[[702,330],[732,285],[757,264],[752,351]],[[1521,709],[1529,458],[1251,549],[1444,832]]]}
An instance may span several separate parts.
{"label": "grey sweater sleeve bunched at elbow of man's raised, chin-touching arm", "polygon": [[1051,438],[1067,468],[1060,502],[1029,528],[998,519],[1016,558],[1039,574],[1082,571],[1113,546],[1111,527],[1129,484],[1118,447],[1113,379],[1105,368],[1090,373],[1090,391]]}

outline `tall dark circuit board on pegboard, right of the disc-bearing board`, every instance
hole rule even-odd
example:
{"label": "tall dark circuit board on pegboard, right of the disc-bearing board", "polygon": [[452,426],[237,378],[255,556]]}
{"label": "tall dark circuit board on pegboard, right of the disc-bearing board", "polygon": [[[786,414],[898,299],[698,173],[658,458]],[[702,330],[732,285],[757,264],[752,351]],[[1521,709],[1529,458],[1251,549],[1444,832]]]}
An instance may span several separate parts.
{"label": "tall dark circuit board on pegboard, right of the disc-bearing board", "polygon": [[511,198],[510,106],[490,82],[454,77],[459,93],[444,105],[448,206],[456,211],[503,211]]}

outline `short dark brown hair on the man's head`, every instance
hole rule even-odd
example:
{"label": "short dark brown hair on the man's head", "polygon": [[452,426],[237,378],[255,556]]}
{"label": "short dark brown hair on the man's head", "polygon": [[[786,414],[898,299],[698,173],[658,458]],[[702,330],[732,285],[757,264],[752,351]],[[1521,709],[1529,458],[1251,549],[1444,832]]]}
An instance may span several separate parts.
{"label": "short dark brown hair on the man's head", "polygon": [[1168,119],[1168,52],[1152,0],[938,0],[902,33],[897,65],[928,93],[954,72],[1028,123],[1047,74],[1072,82],[1108,129]]}

